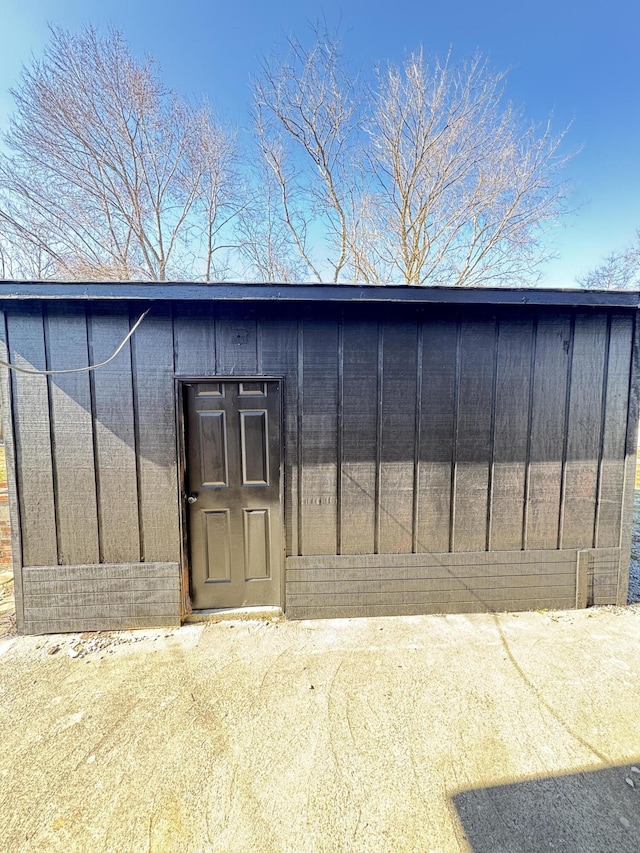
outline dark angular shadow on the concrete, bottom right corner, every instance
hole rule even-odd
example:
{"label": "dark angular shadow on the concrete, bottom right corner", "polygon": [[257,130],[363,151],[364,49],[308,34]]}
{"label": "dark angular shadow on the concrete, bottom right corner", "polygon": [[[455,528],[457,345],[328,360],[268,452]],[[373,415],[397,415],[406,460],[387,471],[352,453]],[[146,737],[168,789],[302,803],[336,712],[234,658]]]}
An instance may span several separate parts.
{"label": "dark angular shadow on the concrete, bottom right corner", "polygon": [[472,853],[637,853],[635,764],[461,791],[452,797]]}

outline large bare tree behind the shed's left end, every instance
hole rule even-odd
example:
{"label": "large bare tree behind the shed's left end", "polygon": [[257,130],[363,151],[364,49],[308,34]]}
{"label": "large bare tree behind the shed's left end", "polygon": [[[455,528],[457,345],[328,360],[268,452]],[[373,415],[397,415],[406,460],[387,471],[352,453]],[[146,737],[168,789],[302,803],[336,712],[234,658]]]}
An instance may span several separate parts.
{"label": "large bare tree behind the shed's left end", "polygon": [[235,211],[235,145],[166,91],[120,33],[52,28],[12,90],[0,233],[59,277],[209,280]]}

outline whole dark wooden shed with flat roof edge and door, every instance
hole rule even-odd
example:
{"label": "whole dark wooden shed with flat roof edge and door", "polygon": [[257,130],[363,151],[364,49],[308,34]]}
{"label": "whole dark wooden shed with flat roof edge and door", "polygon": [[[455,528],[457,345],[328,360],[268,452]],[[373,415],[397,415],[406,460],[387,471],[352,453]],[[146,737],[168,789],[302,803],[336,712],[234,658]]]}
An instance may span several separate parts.
{"label": "whole dark wooden shed with flat roof edge and door", "polygon": [[[626,602],[637,293],[0,284],[23,633]],[[108,359],[149,308],[119,354]]]}

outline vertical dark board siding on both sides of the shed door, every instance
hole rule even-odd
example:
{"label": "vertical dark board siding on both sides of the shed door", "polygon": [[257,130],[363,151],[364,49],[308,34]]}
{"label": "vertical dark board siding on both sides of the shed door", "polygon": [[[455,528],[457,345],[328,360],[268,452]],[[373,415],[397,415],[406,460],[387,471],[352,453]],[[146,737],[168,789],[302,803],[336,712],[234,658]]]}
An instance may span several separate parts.
{"label": "vertical dark board siding on both sides of the shed door", "polygon": [[[11,358],[99,364],[137,310],[17,306]],[[50,531],[78,519],[84,542],[101,525],[133,543],[136,515],[142,539],[171,529],[177,541],[175,374],[285,377],[291,554],[616,547],[632,332],[631,316],[515,308],[389,305],[381,317],[355,305],[310,318],[277,304],[154,306],[99,370],[12,375],[21,499],[37,531],[26,551],[67,562]]]}

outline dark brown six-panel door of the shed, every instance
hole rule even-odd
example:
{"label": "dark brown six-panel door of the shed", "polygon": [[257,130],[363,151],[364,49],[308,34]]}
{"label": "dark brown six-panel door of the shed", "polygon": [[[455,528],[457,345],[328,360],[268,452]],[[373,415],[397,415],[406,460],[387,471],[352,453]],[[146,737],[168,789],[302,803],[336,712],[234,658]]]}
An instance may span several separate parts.
{"label": "dark brown six-panel door of the shed", "polygon": [[195,609],[280,605],[280,383],[186,387]]}

